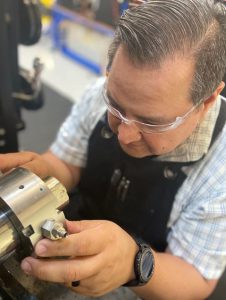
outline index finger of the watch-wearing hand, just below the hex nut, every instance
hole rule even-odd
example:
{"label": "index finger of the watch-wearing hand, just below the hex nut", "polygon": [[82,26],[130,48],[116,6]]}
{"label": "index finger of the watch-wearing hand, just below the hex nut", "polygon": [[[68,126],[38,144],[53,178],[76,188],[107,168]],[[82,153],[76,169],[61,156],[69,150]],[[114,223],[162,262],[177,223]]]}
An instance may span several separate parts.
{"label": "index finger of the watch-wearing hand, just below the hex nut", "polygon": [[40,257],[94,255],[106,247],[108,235],[101,226],[71,234],[58,241],[43,239],[37,243],[35,253]]}

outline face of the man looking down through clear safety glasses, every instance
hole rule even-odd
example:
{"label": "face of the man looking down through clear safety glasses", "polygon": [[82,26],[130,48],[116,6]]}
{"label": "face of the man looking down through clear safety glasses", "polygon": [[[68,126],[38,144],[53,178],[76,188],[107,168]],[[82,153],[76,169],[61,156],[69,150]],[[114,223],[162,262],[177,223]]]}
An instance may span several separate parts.
{"label": "face of the man looking down through clear safety glasses", "polygon": [[[107,81],[107,93],[128,119],[168,124],[191,109],[189,88],[194,65],[182,57],[166,60],[160,68],[131,63],[120,47]],[[111,129],[121,148],[130,156],[142,158],[174,150],[193,132],[203,117],[203,107],[194,110],[179,127],[162,133],[141,133],[137,126],[121,122],[108,113]]]}

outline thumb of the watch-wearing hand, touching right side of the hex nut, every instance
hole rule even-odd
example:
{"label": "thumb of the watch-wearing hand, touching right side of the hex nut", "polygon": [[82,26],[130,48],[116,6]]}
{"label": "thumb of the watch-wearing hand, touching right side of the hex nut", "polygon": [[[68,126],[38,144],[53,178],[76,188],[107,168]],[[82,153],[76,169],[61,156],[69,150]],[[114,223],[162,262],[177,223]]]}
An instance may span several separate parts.
{"label": "thumb of the watch-wearing hand, touching right side of the hex nut", "polygon": [[66,220],[66,227],[69,234],[79,233],[103,224],[102,220],[83,220],[83,221],[68,221]]}

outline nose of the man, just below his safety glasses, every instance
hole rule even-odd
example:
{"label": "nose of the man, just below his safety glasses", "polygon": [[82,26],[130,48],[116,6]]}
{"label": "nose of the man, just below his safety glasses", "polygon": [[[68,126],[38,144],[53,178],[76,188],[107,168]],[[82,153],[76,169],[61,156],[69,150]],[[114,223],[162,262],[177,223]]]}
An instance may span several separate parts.
{"label": "nose of the man, just below his safety glasses", "polygon": [[118,140],[128,145],[133,142],[138,142],[141,139],[141,133],[135,124],[127,124],[121,122],[118,126]]}

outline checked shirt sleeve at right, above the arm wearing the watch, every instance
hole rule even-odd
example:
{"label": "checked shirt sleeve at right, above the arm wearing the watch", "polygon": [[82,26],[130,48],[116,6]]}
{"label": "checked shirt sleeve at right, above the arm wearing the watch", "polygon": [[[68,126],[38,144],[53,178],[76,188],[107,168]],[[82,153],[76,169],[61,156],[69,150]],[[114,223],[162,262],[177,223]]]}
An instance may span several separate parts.
{"label": "checked shirt sleeve at right, above the arm wearing the watch", "polygon": [[168,250],[208,280],[218,279],[226,265],[225,133],[178,192],[174,207],[178,217],[171,222],[167,239]]}

